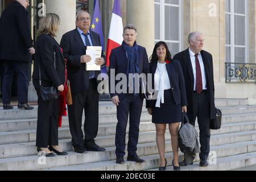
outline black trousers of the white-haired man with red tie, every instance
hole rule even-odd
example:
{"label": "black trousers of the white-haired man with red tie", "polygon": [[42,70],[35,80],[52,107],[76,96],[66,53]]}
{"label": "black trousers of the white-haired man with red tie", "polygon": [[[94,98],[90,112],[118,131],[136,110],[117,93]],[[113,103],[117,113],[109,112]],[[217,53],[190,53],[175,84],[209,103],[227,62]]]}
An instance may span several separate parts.
{"label": "black trousers of the white-haired man with red tie", "polygon": [[[201,144],[200,159],[207,160],[210,152],[210,104],[208,101],[207,90],[203,90],[200,94],[193,92],[193,106],[188,106],[188,117],[191,125],[195,126],[196,117],[199,125],[199,137]],[[195,117],[192,117],[192,114]]]}

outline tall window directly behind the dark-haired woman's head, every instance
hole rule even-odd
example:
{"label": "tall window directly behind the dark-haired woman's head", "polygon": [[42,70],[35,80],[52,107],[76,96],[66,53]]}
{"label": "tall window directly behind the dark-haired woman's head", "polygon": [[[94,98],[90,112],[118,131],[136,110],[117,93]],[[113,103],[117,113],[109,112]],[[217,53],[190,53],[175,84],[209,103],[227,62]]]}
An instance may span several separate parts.
{"label": "tall window directly behind the dark-haired woman's head", "polygon": [[155,0],[155,42],[160,40],[172,55],[181,51],[181,0]]}

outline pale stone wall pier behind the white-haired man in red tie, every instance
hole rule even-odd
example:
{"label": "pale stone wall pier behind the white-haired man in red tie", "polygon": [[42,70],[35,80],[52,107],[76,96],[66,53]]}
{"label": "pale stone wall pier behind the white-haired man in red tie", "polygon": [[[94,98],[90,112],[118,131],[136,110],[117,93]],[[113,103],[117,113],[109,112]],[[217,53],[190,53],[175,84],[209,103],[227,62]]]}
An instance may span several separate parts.
{"label": "pale stone wall pier behind the white-haired man in red tie", "polygon": [[[204,49],[213,56],[214,82],[225,82],[225,1],[223,0],[186,0],[184,14],[188,12],[188,23],[184,26],[184,46],[188,45],[188,34],[192,31],[204,35]],[[218,86],[217,86],[218,88]],[[220,92],[216,88],[216,96]]]}

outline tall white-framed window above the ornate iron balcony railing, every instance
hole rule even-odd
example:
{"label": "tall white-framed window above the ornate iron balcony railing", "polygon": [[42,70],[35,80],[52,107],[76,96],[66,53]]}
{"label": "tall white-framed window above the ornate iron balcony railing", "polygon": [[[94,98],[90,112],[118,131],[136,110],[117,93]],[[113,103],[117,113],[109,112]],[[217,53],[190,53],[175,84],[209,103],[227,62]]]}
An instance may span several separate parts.
{"label": "tall white-framed window above the ornate iron balcony railing", "polygon": [[225,0],[226,62],[246,63],[247,0]]}

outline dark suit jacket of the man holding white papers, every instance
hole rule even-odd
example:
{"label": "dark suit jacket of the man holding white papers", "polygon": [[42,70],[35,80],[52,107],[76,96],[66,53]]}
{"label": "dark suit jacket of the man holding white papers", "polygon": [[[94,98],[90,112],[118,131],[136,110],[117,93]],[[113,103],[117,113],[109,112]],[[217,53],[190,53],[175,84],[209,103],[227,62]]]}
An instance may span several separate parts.
{"label": "dark suit jacket of the man holding white papers", "polygon": [[[90,30],[93,46],[101,46],[100,35]],[[72,94],[86,93],[89,86],[89,74],[85,69],[86,64],[81,64],[81,56],[85,55],[85,46],[77,28],[63,35],[60,47],[63,48],[65,59],[68,60],[68,80],[71,84]],[[105,59],[105,56],[102,55]],[[100,71],[96,71],[96,78]]]}

